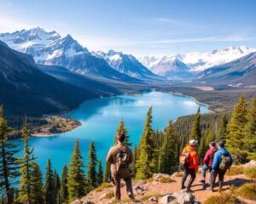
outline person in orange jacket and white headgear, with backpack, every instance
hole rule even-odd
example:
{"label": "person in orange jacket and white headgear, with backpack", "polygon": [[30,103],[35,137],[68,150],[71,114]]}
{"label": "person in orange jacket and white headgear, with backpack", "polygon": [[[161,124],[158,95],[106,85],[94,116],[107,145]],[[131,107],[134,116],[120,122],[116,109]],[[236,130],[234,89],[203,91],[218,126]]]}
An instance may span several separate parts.
{"label": "person in orange jacket and white headgear, with backpack", "polygon": [[[195,173],[198,171],[198,155],[196,152],[196,145],[198,144],[197,140],[192,139],[189,141],[189,145],[187,145],[179,157],[180,167],[184,171],[182,178],[182,186],[181,189],[186,189],[187,191],[191,191],[191,185],[195,180]],[[190,175],[189,184],[187,188],[185,187],[185,181],[187,177]]]}

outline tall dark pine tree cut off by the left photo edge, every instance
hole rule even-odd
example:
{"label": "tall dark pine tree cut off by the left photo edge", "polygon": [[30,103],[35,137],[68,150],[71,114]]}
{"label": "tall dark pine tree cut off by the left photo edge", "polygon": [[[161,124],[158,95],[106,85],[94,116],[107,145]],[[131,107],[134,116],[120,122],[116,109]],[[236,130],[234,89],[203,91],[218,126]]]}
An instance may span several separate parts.
{"label": "tall dark pine tree cut off by the left photo edge", "polygon": [[15,157],[18,153],[17,145],[7,143],[11,131],[12,128],[8,126],[3,117],[3,106],[0,106],[0,189],[3,190],[3,196],[6,196],[7,204],[14,201],[12,185],[20,176],[20,164]]}

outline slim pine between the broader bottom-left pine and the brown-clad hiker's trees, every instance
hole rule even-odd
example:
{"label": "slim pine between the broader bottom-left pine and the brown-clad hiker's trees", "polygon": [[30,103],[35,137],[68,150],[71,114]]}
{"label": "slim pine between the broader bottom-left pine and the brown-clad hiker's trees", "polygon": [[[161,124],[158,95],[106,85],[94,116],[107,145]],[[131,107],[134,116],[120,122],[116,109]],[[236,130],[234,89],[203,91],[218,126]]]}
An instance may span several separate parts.
{"label": "slim pine between the broader bottom-left pine and the brown-clad hiker's trees", "polygon": [[89,163],[88,163],[88,174],[87,174],[87,184],[88,184],[88,192],[93,190],[97,186],[97,173],[96,173],[96,165],[97,165],[97,158],[96,158],[96,148],[93,142],[90,143],[90,150],[89,150]]}

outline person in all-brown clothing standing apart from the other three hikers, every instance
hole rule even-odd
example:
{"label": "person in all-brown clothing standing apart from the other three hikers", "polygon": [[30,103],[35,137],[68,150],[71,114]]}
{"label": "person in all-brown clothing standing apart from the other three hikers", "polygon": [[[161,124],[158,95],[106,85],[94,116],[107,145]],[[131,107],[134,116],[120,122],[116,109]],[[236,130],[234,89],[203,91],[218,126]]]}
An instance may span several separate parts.
{"label": "person in all-brown clothing standing apart from the other three hikers", "polygon": [[134,199],[129,169],[129,164],[133,160],[132,151],[124,144],[125,133],[119,133],[116,141],[117,144],[108,151],[107,156],[107,162],[111,164],[111,177],[115,185],[114,195],[117,200],[121,199],[120,180],[123,178],[128,196]]}

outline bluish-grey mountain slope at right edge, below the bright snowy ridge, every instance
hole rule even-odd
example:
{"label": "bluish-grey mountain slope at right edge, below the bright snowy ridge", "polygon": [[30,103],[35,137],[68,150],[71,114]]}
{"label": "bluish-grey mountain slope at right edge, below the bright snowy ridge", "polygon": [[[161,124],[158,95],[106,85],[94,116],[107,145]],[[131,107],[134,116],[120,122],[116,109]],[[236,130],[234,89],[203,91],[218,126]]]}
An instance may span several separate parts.
{"label": "bluish-grey mountain slope at right edge, below the bright snowy ridge", "polygon": [[196,78],[200,82],[256,85],[256,52],[202,71]]}

